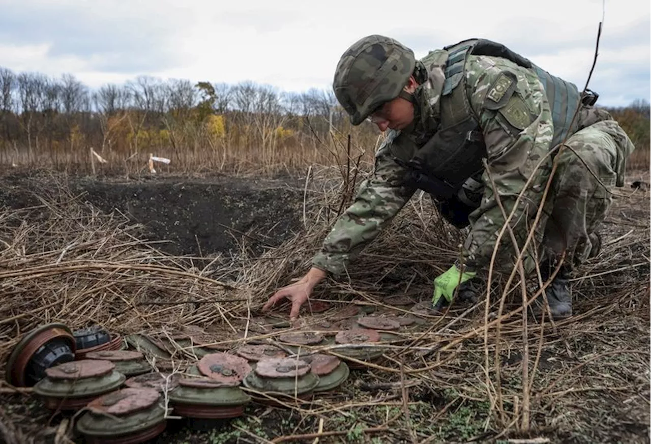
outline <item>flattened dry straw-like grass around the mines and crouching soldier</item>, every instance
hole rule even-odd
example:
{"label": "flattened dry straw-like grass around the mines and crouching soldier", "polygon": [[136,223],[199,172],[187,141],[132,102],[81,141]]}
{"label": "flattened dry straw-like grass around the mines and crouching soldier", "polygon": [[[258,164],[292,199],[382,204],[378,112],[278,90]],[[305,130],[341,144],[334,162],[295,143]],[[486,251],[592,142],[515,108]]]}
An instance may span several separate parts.
{"label": "flattened dry straw-like grass around the mines and crouching soldier", "polygon": [[[0,361],[21,333],[45,322],[72,328],[100,324],[122,334],[192,324],[221,332],[228,337],[222,342],[232,347],[241,340],[230,339],[229,331],[247,329],[257,339],[274,340],[286,330],[253,328],[262,303],[305,271],[361,175],[348,176],[348,190],[340,182],[313,190],[309,195],[316,197],[305,205],[304,232],[263,257],[249,257],[243,248],[239,257],[200,265],[160,253],[140,240],[140,227],[124,217],[102,214],[65,187],[44,182],[34,190],[42,204],[0,212]],[[320,442],[342,436],[359,442],[518,436],[568,443],[648,442],[651,207],[643,193],[624,194],[628,197],[616,199],[605,223],[602,254],[574,281],[577,315],[555,325],[530,322],[529,359],[523,358],[519,283],[516,279],[506,288],[506,279],[497,275],[495,297],[488,303],[424,316],[424,327],[385,346],[383,360],[340,393],[292,406],[298,425],[284,437],[271,436],[274,442],[291,441],[299,430],[313,434],[312,440],[319,429],[333,432],[322,434]],[[428,299],[432,279],[454,260],[464,236],[443,224],[426,199],[415,197],[346,279],[329,281],[314,295],[339,301],[335,308],[319,318],[304,317],[292,328],[332,320],[350,304],[400,312],[384,301],[396,294]],[[507,296],[499,315],[502,294]],[[187,350],[178,351],[175,367],[193,360]],[[525,386],[523,362],[529,378]],[[529,418],[523,421],[523,415]],[[0,430],[30,433],[18,416],[3,414],[0,422]],[[244,430],[251,434],[253,429]]]}

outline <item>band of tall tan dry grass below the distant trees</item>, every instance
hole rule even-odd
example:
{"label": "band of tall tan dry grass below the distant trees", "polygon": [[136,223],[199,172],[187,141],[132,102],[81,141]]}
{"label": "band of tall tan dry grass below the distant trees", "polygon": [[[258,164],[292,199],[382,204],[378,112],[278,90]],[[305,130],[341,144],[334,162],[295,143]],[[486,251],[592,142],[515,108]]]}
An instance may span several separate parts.
{"label": "band of tall tan dry grass below the distant trees", "polygon": [[[265,124],[260,115],[252,118],[251,126]],[[347,119],[346,119],[347,120]],[[264,137],[257,132],[234,129],[223,137],[212,139],[205,134],[184,138],[184,143],[169,140],[150,145],[101,146],[81,143],[66,149],[51,146],[26,145],[0,138],[0,167],[23,169],[51,169],[68,174],[94,174],[97,176],[139,176],[150,174],[150,154],[168,158],[169,165],[155,163],[158,173],[264,175],[296,174],[305,172],[311,165],[345,164],[348,154],[361,156],[372,163],[379,133],[370,124],[352,126],[347,121],[329,128],[323,117],[296,119],[289,135],[277,137],[282,127],[270,126]],[[323,127],[329,128],[323,130]],[[318,128],[320,128],[320,130]],[[347,152],[347,137],[352,139],[351,152]],[[98,160],[93,149],[105,162]]]}

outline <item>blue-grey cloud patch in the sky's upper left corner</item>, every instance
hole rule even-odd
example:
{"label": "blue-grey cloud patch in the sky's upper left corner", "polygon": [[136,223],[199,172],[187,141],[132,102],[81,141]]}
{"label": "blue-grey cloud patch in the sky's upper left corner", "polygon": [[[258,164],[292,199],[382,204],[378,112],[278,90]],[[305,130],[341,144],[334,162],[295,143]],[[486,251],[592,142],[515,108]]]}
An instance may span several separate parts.
{"label": "blue-grey cloud patch in the sky's upper left corner", "polygon": [[3,8],[0,45],[28,51],[45,47],[39,55],[42,62],[77,59],[91,70],[109,73],[136,74],[175,63],[169,20],[149,20],[121,1],[80,5],[25,1]]}

